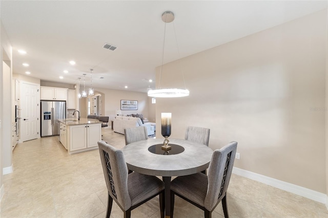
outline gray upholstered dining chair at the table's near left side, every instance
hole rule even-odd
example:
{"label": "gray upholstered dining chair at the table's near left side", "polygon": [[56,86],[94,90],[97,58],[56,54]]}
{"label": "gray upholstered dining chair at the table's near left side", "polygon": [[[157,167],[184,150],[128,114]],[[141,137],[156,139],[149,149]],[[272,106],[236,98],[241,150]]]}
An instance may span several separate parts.
{"label": "gray upholstered dining chair at the table's near left side", "polygon": [[99,141],[98,146],[108,190],[106,217],[110,217],[113,200],[124,211],[124,217],[131,217],[131,210],[159,194],[160,217],[164,218],[164,183],[155,176],[138,172],[128,174],[128,167],[121,150],[104,141]]}

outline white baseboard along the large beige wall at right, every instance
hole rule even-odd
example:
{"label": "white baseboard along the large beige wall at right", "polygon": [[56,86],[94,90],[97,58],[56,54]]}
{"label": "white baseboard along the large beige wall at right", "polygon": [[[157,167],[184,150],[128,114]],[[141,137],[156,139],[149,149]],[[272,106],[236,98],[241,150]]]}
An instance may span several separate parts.
{"label": "white baseboard along the large beige wall at right", "polygon": [[260,175],[258,173],[255,172],[251,172],[251,171],[247,171],[244,169],[240,169],[237,167],[234,167],[232,170],[233,173],[235,173],[236,175],[242,176],[242,177],[246,177],[249,178],[251,180],[255,180],[285,191],[289,191],[292,192],[294,194],[300,195],[302,197],[311,199],[313,201],[317,201],[320,203],[323,203],[327,206],[328,208],[328,197],[326,194],[318,192],[318,191],[314,191],[308,188],[304,188],[298,185],[294,185],[288,182],[283,182],[277,179],[273,179],[271,177],[267,177],[267,176],[263,176]]}

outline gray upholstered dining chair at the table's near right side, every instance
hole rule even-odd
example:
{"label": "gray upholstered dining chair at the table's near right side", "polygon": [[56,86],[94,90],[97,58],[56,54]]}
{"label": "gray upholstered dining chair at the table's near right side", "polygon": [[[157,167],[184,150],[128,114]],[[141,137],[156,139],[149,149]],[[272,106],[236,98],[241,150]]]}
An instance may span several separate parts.
{"label": "gray upholstered dining chair at the table's near right side", "polygon": [[222,201],[224,217],[229,217],[227,189],[236,156],[237,142],[231,142],[213,152],[208,176],[203,173],[181,176],[171,182],[171,217],[174,210],[174,195],[190,202],[211,217],[212,211]]}

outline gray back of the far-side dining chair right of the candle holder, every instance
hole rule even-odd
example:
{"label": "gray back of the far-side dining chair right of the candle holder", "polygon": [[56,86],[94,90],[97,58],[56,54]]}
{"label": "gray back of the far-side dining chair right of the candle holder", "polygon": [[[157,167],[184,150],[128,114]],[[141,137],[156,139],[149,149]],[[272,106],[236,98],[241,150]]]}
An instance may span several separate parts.
{"label": "gray back of the far-side dining chair right of the candle holder", "polygon": [[185,139],[209,146],[210,129],[196,126],[188,126]]}

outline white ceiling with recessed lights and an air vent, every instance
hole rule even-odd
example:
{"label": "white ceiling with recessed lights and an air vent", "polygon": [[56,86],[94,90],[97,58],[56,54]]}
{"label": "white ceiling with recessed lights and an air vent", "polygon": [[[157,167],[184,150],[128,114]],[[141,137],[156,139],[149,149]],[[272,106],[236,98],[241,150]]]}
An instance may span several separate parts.
{"label": "white ceiling with recessed lights and an air vent", "polygon": [[[327,2],[1,1],[0,7],[13,47],[13,73],[30,71],[31,77],[70,84],[86,73],[89,86],[93,68],[94,87],[125,90],[127,85],[127,90],[147,92],[148,85],[155,87],[147,80],[155,80],[162,61],[163,12],[175,14],[180,54],[168,24],[164,62],[170,62],[322,10]],[[117,49],[104,49],[105,42]]]}

